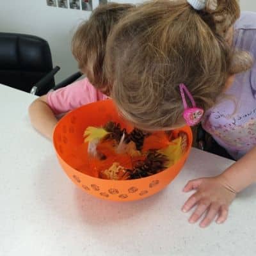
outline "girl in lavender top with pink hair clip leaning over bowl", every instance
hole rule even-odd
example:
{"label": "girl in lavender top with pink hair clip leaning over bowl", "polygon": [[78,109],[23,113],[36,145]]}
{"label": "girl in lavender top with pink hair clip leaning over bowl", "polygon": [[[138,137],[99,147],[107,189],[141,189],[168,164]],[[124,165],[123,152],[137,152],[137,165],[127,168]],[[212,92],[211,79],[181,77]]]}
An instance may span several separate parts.
{"label": "girl in lavender top with pink hair clip leaning over bowl", "polygon": [[111,97],[127,120],[174,129],[205,113],[205,129],[239,159],[185,186],[196,192],[182,210],[196,206],[191,223],[206,213],[201,227],[216,216],[223,223],[236,194],[256,181],[255,24],[255,13],[240,17],[236,0],[161,0],[137,6],[108,39]]}

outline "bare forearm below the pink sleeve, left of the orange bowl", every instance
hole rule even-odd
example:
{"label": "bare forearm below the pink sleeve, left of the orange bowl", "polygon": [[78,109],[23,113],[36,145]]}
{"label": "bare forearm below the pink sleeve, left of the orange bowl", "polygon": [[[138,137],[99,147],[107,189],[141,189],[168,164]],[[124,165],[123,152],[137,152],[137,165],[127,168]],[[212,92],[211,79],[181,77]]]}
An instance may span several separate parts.
{"label": "bare forearm below the pink sleeve, left of the orange bowl", "polygon": [[46,138],[52,140],[54,127],[58,120],[47,104],[47,95],[36,99],[29,106],[29,116],[33,127]]}

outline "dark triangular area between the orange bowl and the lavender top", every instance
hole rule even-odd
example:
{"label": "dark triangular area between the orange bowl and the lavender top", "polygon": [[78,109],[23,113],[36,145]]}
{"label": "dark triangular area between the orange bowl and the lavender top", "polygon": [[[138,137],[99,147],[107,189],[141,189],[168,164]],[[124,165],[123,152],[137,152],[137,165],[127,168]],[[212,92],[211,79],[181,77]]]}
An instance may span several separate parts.
{"label": "dark triangular area between the orange bowl and the lavender top", "polygon": [[204,130],[201,124],[196,127],[196,147],[212,154],[233,159],[225,148],[221,147],[212,136]]}

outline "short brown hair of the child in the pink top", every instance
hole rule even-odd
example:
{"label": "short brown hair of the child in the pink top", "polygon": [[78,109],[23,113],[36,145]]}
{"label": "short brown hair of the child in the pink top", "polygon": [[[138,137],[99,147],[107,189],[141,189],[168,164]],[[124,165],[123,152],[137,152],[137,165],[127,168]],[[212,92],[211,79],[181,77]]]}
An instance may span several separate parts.
{"label": "short brown hair of the child in the pink top", "polygon": [[72,38],[72,53],[79,68],[97,88],[107,84],[102,70],[108,35],[132,4],[100,4],[93,10],[90,19],[82,22]]}

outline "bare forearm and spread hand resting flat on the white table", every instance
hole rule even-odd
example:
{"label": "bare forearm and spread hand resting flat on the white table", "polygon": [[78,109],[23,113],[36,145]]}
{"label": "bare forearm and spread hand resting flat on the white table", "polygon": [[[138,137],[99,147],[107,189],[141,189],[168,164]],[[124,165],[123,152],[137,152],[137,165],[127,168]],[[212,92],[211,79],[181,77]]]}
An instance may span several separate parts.
{"label": "bare forearm and spread hand resting flat on the white table", "polygon": [[196,189],[196,193],[190,196],[182,208],[187,212],[196,205],[189,222],[195,223],[207,211],[200,223],[201,227],[209,225],[216,216],[216,222],[223,223],[227,219],[228,207],[236,193],[256,182],[255,159],[256,147],[221,175],[189,181],[184,192]]}

